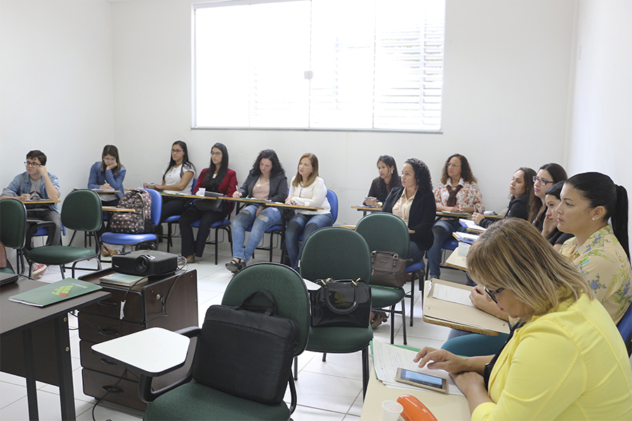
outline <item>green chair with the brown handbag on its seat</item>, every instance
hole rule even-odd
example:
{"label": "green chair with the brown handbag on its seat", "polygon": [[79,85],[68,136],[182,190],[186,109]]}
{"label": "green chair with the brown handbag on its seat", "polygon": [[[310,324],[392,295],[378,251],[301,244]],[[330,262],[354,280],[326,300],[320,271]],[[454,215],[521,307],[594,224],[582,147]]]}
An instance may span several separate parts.
{"label": "green chair with the brown handbag on its seat", "polygon": [[[401,218],[392,213],[371,213],[365,216],[357,222],[355,232],[360,234],[364,241],[367,241],[371,251],[390,251],[391,253],[397,253],[403,259],[408,255],[410,244],[408,227]],[[390,307],[390,343],[393,343],[395,340],[395,313],[402,314],[404,345],[407,345],[406,302],[404,301],[406,291],[404,291],[404,288],[371,285],[371,295],[371,307],[374,309]],[[398,302],[402,303],[401,312],[395,311],[395,305]]]}

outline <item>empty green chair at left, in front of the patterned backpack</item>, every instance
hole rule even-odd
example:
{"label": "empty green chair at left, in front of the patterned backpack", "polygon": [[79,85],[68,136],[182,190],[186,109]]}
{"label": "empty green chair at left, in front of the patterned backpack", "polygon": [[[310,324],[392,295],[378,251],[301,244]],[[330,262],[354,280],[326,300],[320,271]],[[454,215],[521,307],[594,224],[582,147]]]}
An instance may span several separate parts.
{"label": "empty green chair at left, in front of the patterned backpack", "polygon": [[[66,196],[61,212],[62,225],[74,231],[96,232],[103,221],[101,201],[98,194],[88,189],[75,190]],[[77,262],[96,259],[98,269],[101,269],[99,260],[100,246],[95,242],[95,248],[73,246],[43,246],[35,247],[27,252],[30,262],[43,263],[44,265],[58,265],[62,278],[65,278],[65,265],[72,263],[72,277],[77,269]],[[96,270],[92,268],[80,268],[84,270]],[[31,269],[29,269],[29,276]]]}

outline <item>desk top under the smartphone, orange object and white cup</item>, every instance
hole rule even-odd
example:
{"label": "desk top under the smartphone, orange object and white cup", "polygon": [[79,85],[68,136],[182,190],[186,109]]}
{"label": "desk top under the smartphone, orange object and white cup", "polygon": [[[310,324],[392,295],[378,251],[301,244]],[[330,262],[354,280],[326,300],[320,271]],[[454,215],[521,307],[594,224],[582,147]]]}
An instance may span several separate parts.
{"label": "desk top under the smartphone, orange object and white cup", "polygon": [[386,387],[377,379],[371,366],[369,385],[367,387],[367,395],[364,396],[360,421],[381,420],[382,402],[386,400],[397,401],[397,398],[402,396],[402,394],[415,396],[421,403],[426,405],[426,408],[437,417],[437,420],[470,419],[470,407],[468,405],[468,399],[465,396],[442,394],[432,391],[426,392],[423,389],[417,391]]}

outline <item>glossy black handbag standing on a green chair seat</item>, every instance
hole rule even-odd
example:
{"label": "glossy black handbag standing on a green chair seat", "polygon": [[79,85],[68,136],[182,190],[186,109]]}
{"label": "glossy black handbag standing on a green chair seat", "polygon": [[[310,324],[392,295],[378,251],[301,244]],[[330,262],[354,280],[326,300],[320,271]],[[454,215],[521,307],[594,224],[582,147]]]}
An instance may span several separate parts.
{"label": "glossy black handbag standing on a green chair seat", "polygon": [[310,290],[311,325],[315,328],[367,328],[371,317],[371,287],[357,279],[318,279]]}

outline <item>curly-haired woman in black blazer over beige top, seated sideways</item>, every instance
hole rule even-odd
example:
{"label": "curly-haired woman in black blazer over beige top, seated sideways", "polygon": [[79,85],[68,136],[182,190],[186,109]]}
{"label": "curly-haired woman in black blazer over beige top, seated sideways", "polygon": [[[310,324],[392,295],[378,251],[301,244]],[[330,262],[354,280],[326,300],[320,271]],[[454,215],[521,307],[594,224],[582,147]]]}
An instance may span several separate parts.
{"label": "curly-haired woman in black blazer over beige top, seated sideways", "polygon": [[414,231],[410,236],[408,258],[417,262],[433,244],[435,222],[435,198],[430,171],[425,163],[416,158],[407,159],[402,167],[402,185],[390,191],[382,212],[393,213]]}

